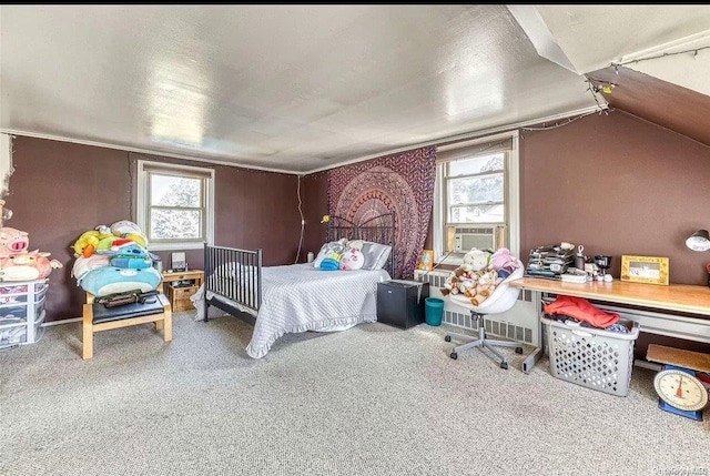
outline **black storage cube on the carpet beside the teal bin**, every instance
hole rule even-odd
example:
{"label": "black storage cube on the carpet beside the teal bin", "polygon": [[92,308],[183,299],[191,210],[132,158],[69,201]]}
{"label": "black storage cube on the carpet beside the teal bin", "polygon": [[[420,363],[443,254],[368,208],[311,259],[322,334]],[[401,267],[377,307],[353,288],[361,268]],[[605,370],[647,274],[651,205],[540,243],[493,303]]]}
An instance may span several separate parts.
{"label": "black storage cube on the carpet beside the teal bin", "polygon": [[[419,293],[419,286],[422,293]],[[424,322],[424,300],[429,296],[429,283],[417,281],[383,281],[377,283],[377,322],[409,328]]]}

